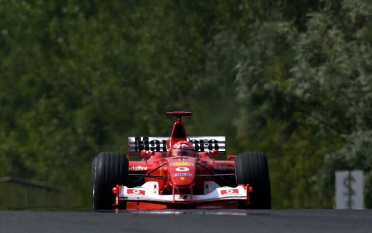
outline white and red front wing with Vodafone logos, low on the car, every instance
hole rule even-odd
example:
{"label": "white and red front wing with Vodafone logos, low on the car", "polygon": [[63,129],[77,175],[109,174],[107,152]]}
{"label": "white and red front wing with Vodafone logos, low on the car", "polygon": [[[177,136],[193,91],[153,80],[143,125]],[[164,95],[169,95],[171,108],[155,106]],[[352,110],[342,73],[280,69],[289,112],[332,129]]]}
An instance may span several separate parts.
{"label": "white and red front wing with Vodafone logos, low on the car", "polygon": [[204,190],[204,194],[201,195],[161,195],[159,194],[158,182],[154,181],[146,182],[144,185],[135,188],[117,185],[113,188],[113,192],[116,194],[114,207],[119,207],[123,202],[144,202],[166,204],[169,206],[202,205],[237,201],[246,201],[246,204],[249,204],[249,192],[252,191],[252,187],[248,184],[240,184],[234,188],[228,186],[220,187],[217,183],[211,181],[204,183]]}

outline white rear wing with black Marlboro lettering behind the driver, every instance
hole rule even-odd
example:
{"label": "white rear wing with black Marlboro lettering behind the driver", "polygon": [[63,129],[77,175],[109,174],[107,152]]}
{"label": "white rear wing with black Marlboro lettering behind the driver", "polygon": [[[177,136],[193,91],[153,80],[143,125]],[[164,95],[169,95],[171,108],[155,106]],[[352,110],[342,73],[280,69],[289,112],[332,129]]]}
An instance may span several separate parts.
{"label": "white rear wing with black Marlboro lettering behind the driver", "polygon": [[[168,140],[169,137],[129,137],[128,154],[140,154],[142,150],[167,152]],[[197,152],[218,150],[220,155],[226,155],[225,137],[188,137],[188,141]]]}

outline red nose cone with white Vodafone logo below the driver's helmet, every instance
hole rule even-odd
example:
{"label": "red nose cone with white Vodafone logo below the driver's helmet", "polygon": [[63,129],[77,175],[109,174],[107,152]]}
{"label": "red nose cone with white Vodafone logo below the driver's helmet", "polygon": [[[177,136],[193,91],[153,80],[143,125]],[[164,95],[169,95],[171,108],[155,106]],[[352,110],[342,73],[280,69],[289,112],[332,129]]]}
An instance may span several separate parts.
{"label": "red nose cone with white Vodafone logo below the driver's helmet", "polygon": [[170,157],[167,160],[170,181],[174,187],[190,187],[194,184],[196,158]]}

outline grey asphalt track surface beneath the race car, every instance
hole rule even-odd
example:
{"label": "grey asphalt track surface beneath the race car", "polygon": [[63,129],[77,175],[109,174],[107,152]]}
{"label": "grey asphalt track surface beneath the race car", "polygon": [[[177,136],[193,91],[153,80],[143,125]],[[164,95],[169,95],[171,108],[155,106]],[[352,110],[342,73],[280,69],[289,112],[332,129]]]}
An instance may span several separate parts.
{"label": "grey asphalt track surface beneath the race car", "polygon": [[372,210],[0,211],[0,232],[372,232]]}

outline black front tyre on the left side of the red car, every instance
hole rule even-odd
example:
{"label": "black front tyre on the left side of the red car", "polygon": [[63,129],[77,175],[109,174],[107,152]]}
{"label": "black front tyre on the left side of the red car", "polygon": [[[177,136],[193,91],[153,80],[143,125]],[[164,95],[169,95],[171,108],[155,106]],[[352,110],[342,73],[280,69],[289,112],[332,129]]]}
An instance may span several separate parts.
{"label": "black front tyre on the left side of the red car", "polygon": [[116,152],[101,152],[92,161],[92,209],[112,209],[115,201],[112,188],[125,185],[127,180],[127,157]]}

